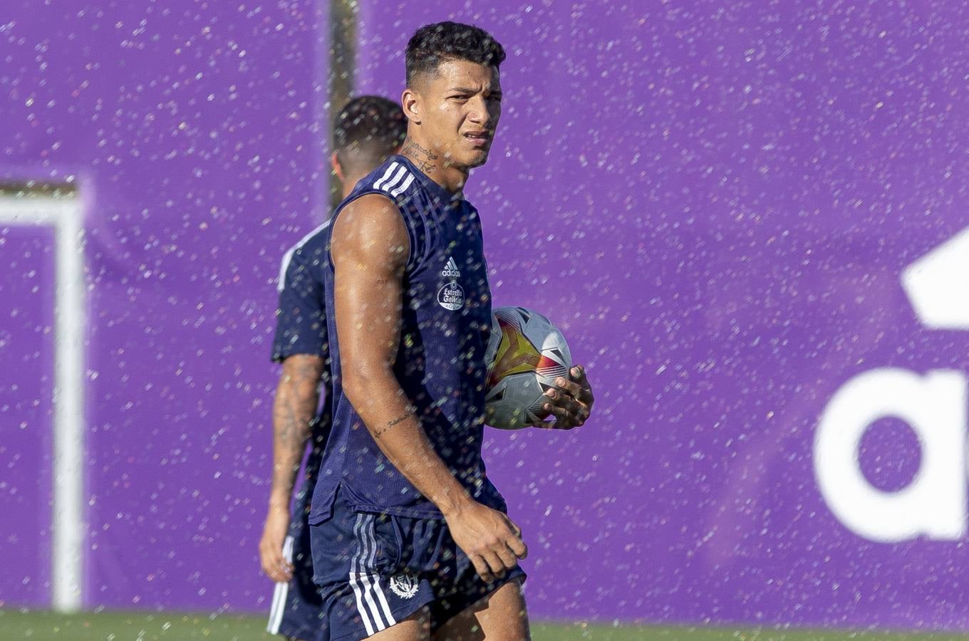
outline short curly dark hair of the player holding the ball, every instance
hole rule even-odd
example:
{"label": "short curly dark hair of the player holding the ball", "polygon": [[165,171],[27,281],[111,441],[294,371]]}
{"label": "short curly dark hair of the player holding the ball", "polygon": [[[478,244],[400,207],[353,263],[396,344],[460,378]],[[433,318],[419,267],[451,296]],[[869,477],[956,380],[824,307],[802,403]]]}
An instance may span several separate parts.
{"label": "short curly dark hair of the player holding the ball", "polygon": [[453,59],[498,68],[505,60],[505,47],[484,29],[470,24],[425,24],[407,43],[408,86],[416,76],[433,73],[442,62]]}

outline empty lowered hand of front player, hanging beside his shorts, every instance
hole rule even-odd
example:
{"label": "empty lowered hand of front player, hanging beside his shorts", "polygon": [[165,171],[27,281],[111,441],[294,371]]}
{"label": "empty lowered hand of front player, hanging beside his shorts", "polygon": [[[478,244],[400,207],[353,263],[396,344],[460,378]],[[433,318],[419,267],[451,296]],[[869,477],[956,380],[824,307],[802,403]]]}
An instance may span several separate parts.
{"label": "empty lowered hand of front player, hanging beside his shorts", "polygon": [[521,529],[496,509],[472,501],[445,519],[454,542],[485,583],[503,578],[528,554]]}

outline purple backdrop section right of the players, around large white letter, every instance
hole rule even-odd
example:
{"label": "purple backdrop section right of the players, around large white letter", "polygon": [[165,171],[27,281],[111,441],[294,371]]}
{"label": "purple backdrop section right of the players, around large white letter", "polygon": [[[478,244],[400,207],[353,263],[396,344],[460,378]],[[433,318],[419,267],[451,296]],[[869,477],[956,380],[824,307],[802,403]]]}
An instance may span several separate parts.
{"label": "purple backdrop section right of the players, around large white letter", "polygon": [[[940,4],[363,6],[359,90],[398,96],[422,23],[509,53],[467,189],[496,304],[546,313],[598,404],[492,433],[487,462],[555,618],[969,627],[959,541],[866,541],[822,500],[815,426],[862,371],[965,369],[901,269],[967,224],[967,15]],[[945,61],[944,63],[942,61]],[[887,491],[919,466],[863,441]]]}

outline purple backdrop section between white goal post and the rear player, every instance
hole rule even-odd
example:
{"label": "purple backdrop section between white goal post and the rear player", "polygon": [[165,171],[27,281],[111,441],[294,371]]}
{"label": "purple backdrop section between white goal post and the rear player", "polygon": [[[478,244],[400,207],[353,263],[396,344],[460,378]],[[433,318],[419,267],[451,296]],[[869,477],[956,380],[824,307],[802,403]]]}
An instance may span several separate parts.
{"label": "purple backdrop section between white goal post and the rear player", "polygon": [[[74,180],[87,203],[88,607],[268,606],[274,284],[327,205],[326,15],[177,0],[2,18],[3,175]],[[20,600],[13,581],[0,600]]]}

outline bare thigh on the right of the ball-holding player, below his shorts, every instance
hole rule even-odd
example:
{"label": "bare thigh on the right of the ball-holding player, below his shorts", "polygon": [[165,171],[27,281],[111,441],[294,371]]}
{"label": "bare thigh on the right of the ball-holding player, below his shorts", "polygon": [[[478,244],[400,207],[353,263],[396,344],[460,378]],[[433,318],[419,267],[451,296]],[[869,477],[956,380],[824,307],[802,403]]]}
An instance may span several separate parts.
{"label": "bare thigh on the right of the ball-holding player, below his shorts", "polygon": [[528,641],[521,582],[509,581],[438,628],[433,641]]}

